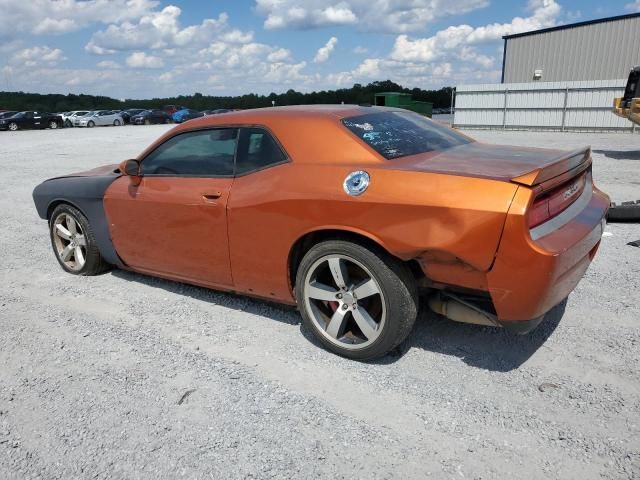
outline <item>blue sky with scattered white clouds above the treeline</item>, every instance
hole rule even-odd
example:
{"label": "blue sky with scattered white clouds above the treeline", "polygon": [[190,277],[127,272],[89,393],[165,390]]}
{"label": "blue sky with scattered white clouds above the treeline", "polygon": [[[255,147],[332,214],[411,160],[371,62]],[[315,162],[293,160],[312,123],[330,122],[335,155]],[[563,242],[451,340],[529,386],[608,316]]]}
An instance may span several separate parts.
{"label": "blue sky with scattered white clouds above the treeline", "polygon": [[640,0],[0,0],[0,90],[115,98],[496,83],[503,35]]}

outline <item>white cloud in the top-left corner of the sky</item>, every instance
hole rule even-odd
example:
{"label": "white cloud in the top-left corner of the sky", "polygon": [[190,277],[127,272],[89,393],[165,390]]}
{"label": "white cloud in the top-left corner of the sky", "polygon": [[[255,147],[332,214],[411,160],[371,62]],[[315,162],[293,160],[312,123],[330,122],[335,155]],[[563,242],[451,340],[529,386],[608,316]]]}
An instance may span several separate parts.
{"label": "white cloud in the top-left corner of the sky", "polygon": [[0,38],[24,32],[67,33],[91,23],[113,23],[139,18],[156,0],[0,0]]}

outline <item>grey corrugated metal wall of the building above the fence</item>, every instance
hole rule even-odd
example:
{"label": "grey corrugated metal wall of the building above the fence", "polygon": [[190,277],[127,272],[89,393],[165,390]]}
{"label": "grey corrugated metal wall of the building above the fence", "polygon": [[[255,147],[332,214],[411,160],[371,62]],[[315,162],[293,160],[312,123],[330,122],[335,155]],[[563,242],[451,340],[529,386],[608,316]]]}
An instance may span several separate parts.
{"label": "grey corrugated metal wall of the building above the fence", "polygon": [[505,83],[626,78],[640,65],[640,16],[508,38]]}

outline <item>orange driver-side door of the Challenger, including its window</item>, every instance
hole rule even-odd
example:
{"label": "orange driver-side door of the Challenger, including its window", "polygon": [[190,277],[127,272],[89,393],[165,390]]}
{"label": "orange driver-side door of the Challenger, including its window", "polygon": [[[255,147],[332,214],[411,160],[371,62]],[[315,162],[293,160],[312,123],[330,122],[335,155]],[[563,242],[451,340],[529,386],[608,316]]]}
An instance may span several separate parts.
{"label": "orange driver-side door of the Challenger, including its window", "polygon": [[141,161],[141,181],[121,177],[104,205],[118,255],[135,270],[232,285],[227,201],[237,128],[174,135]]}

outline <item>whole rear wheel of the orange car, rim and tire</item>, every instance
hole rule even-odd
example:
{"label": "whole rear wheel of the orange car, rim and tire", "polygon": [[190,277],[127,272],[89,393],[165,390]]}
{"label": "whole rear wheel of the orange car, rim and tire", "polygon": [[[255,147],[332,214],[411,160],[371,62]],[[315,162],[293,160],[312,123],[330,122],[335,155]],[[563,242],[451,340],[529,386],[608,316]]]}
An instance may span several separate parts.
{"label": "whole rear wheel of the orange car, rim and tire", "polygon": [[415,280],[386,252],[342,240],[307,252],[296,275],[305,326],[338,355],[384,356],[409,334],[418,314]]}

